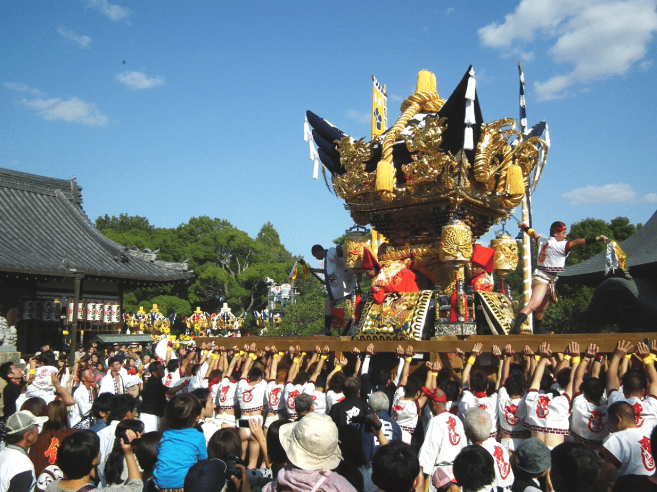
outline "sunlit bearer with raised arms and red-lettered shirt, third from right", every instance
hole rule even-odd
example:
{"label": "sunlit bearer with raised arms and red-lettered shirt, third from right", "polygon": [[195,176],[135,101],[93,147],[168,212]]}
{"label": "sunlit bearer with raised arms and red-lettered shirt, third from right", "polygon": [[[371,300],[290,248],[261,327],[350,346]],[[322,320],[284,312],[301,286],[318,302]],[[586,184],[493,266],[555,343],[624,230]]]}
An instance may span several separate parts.
{"label": "sunlit bearer with raised arms and red-lettered shirt, third from right", "polygon": [[[568,345],[571,354],[579,354],[579,344],[570,342]],[[540,360],[536,365],[533,373],[532,384],[525,398],[527,408],[527,417],[525,420],[526,428],[532,431],[532,438],[538,438],[549,449],[564,441],[564,436],[569,433],[568,414],[570,413],[570,403],[572,399],[572,388],[575,371],[579,365],[579,356],[571,359],[572,367],[570,369],[570,381],[566,386],[564,394],[554,396],[553,394],[539,394],[543,372],[549,359],[552,356],[550,344],[543,342],[537,350]]]}

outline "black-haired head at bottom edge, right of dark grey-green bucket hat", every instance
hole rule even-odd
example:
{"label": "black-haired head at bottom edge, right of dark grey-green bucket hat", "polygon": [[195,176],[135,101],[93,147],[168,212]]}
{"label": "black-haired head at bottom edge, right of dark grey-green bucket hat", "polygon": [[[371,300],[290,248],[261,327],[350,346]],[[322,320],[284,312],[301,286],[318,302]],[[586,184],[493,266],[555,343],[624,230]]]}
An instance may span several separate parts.
{"label": "black-haired head at bottom edge, right of dark grey-green bucket hat", "polygon": [[555,492],[593,492],[600,468],[595,451],[564,442],[550,452],[550,479]]}

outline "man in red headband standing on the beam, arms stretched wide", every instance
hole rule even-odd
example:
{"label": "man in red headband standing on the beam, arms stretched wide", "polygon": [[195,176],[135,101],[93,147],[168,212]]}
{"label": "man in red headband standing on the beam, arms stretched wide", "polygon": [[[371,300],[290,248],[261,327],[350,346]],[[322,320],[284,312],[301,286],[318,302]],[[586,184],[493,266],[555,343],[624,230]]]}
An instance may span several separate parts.
{"label": "man in red headband standing on the beam, arms stretched wide", "polygon": [[597,236],[566,241],[566,225],[558,221],[553,222],[550,226],[550,237],[547,239],[539,236],[535,230],[529,228],[524,222],[519,222],[518,227],[536,241],[539,251],[537,267],[532,279],[532,297],[528,304],[520,310],[511,333],[518,335],[522,323],[533,313],[534,335],[552,335],[553,332],[544,330],[541,327],[543,315],[550,304],[550,299],[556,300],[555,283],[558,278],[557,274],[564,271],[566,258],[570,254],[570,250],[597,242],[606,243],[607,238],[606,236]]}

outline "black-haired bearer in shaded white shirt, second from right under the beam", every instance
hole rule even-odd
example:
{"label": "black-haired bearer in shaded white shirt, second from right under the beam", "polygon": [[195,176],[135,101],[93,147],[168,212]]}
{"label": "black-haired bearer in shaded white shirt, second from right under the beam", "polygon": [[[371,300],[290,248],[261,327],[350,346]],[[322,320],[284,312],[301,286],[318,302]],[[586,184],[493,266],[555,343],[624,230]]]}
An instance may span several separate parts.
{"label": "black-haired bearer in shaded white shirt, second from right under the beam", "polygon": [[[570,435],[577,442],[595,451],[600,448],[602,440],[609,434],[604,382],[597,377],[601,365],[601,358],[596,358],[597,353],[598,346],[589,344],[581,358],[573,382],[573,388],[578,389],[578,392],[573,398],[570,415]],[[592,360],[595,376],[591,375],[584,379],[584,373]]]}

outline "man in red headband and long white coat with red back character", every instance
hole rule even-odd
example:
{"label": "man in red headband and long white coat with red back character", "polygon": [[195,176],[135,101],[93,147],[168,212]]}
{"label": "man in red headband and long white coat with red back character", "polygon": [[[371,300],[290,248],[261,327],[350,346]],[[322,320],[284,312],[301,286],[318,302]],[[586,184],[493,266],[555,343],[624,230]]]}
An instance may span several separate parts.
{"label": "man in red headband and long white coat with red back character", "polygon": [[[461,419],[445,408],[447,403],[445,392],[440,388],[434,388],[427,398],[432,405],[434,417],[426,426],[424,443],[418,454],[425,480],[433,476],[438,468],[445,468],[445,472],[451,474],[454,459],[468,444]],[[429,491],[436,492],[433,483],[430,483]]]}

